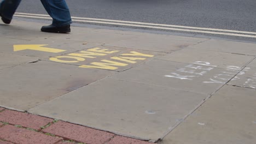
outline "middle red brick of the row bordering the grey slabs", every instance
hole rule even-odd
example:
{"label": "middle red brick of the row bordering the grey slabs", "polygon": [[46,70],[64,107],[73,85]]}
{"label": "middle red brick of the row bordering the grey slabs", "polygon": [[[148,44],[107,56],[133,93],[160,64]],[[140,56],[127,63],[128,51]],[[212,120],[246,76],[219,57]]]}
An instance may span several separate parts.
{"label": "middle red brick of the row bordering the grey slabs", "polygon": [[54,123],[50,127],[43,129],[43,131],[45,133],[54,134],[79,142],[85,142],[87,144],[102,144],[114,136],[114,134],[105,131],[95,130],[62,121]]}

